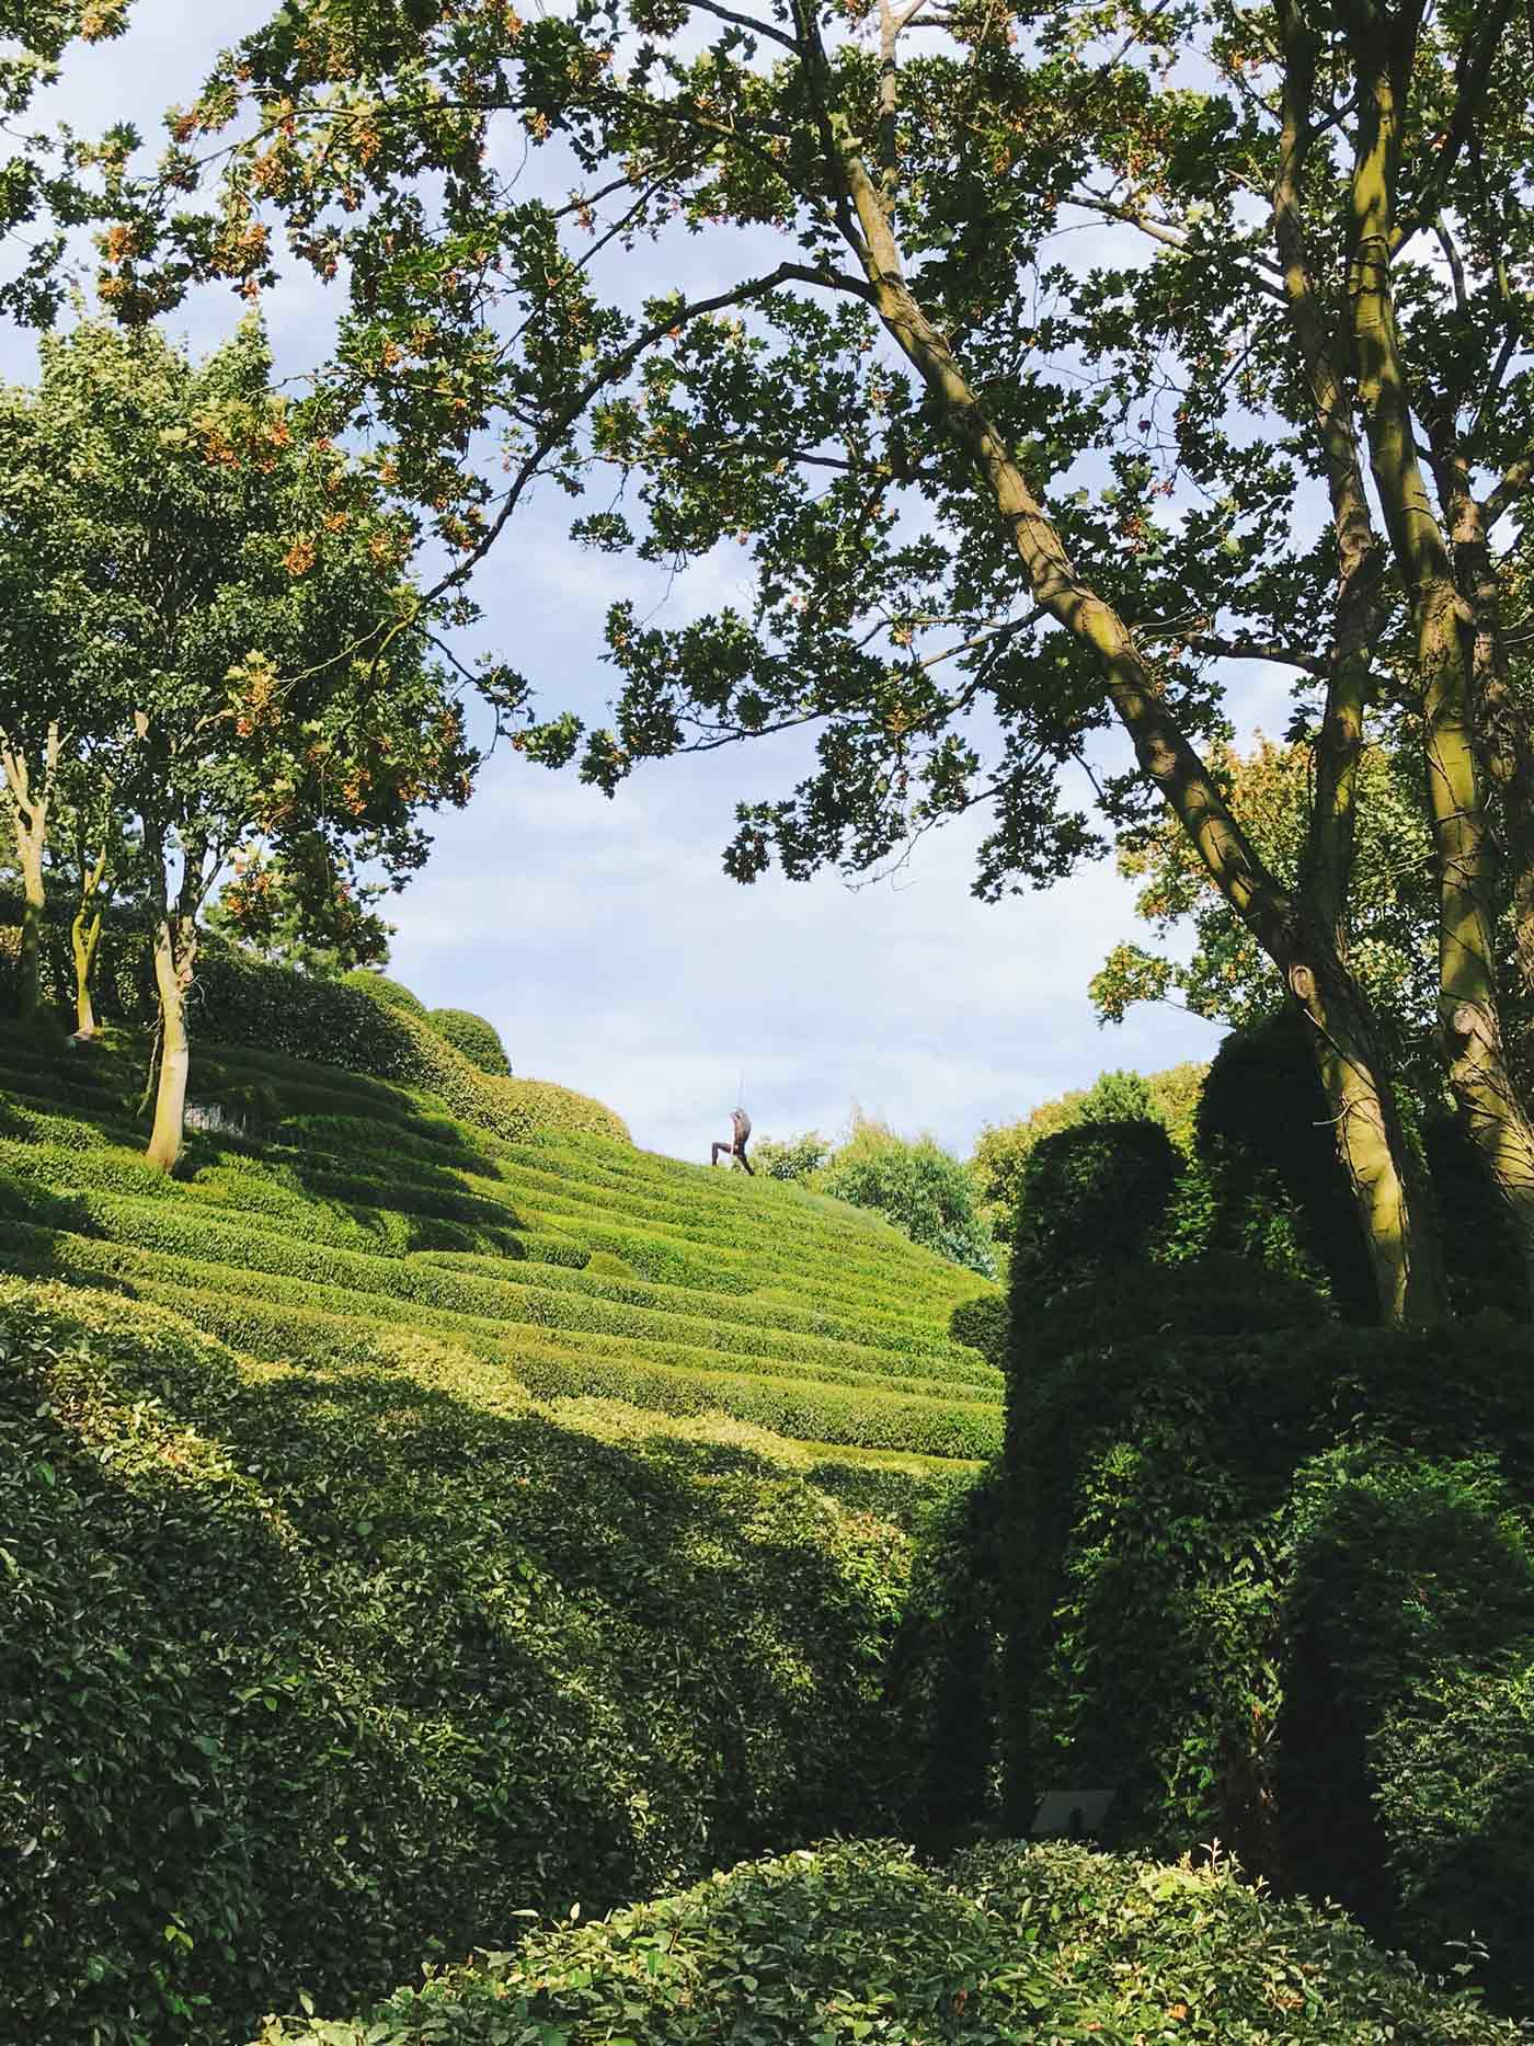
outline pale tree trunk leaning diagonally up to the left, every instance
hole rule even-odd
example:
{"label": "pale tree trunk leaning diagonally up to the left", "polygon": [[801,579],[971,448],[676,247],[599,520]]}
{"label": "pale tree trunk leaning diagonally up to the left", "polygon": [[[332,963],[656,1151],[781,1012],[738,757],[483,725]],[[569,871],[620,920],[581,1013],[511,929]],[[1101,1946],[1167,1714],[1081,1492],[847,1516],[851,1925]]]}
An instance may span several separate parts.
{"label": "pale tree trunk leaning diagonally up to the left", "polygon": [[[826,57],[806,6],[796,8],[796,23],[810,86],[826,110],[832,104],[824,90]],[[1428,1203],[1411,1197],[1411,1154],[1387,1084],[1370,1062],[1370,1033],[1358,1027],[1366,1017],[1362,992],[1336,958],[1303,958],[1299,906],[1268,874],[1231,816],[1205,763],[1166,708],[1160,681],[1125,622],[1076,573],[1053,522],[980,405],[945,336],[916,303],[894,237],[894,207],[886,196],[894,184],[890,166],[884,166],[875,182],[839,115],[824,113],[824,131],[832,172],[855,215],[857,231],[849,231],[849,241],[869,282],[869,299],[886,331],[941,405],[957,446],[974,462],[978,481],[1012,538],[1035,602],[1098,655],[1109,700],[1133,741],[1141,771],[1178,818],[1225,902],[1284,980],[1295,986],[1293,976],[1299,974],[1299,984],[1311,990],[1317,1060],[1381,1287],[1381,1316],[1395,1324],[1436,1320],[1442,1295],[1436,1285],[1432,1215]],[[1346,1000],[1342,990],[1348,990]]]}

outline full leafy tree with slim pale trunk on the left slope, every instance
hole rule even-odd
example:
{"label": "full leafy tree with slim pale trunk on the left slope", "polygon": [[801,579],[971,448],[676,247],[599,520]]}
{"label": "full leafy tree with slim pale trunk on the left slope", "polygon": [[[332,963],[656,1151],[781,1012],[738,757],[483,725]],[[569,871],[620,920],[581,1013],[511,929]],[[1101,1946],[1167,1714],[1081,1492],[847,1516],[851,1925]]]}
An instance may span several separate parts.
{"label": "full leafy tree with slim pale trunk on the left slope", "polygon": [[[6,399],[35,479],[8,540],[47,569],[78,802],[106,804],[139,847],[160,1000],[149,1156],[166,1168],[221,876],[233,921],[286,917],[366,955],[358,865],[401,884],[425,857],[419,812],[464,802],[477,765],[456,677],[430,657],[436,614],[401,575],[409,522],[323,417],[268,385],[256,321],[205,362],[86,321]],[[25,702],[14,647],[6,667]]]}

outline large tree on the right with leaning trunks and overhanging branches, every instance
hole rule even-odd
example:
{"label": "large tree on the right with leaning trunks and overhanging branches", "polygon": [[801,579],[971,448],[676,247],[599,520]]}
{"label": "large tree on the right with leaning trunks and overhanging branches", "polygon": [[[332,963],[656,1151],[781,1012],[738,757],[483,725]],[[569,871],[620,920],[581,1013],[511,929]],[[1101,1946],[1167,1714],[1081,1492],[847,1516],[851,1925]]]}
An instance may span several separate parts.
{"label": "large tree on the right with leaning trunks and overhanging branches", "polygon": [[[1493,941],[1499,890],[1534,937],[1534,741],[1499,622],[1501,522],[1534,483],[1532,74],[1507,23],[1509,0],[1432,23],[1422,0],[1111,0],[1021,27],[967,0],[538,23],[299,0],[176,117],[184,182],[188,143],[254,110],[221,211],[166,229],[145,203],[106,288],[164,303],[239,235],[258,280],[278,209],[321,274],[346,264],[337,389],[464,567],[542,475],[616,477],[577,522],[595,546],[740,540],[747,614],[614,610],[618,714],[583,773],[612,792],[642,759],[818,726],[816,769],[738,816],[742,880],[773,855],[861,872],[990,804],[994,896],[1160,798],[1309,1023],[1383,1316],[1424,1322],[1430,1203],[1350,958],[1381,708],[1432,818],[1446,1078],[1534,1279]],[[569,203],[507,188],[497,121],[573,160]],[[783,260],[638,317],[603,299],[593,256],[671,221],[714,233],[720,270],[726,229]],[[1072,272],[1053,237],[1092,221],[1156,260]],[[464,475],[481,428],[509,434],[505,477]],[[1289,882],[1209,757],[1233,657],[1299,675]],[[1109,726],[1133,767],[1100,757]],[[524,745],[560,763],[581,739],[562,716]]]}

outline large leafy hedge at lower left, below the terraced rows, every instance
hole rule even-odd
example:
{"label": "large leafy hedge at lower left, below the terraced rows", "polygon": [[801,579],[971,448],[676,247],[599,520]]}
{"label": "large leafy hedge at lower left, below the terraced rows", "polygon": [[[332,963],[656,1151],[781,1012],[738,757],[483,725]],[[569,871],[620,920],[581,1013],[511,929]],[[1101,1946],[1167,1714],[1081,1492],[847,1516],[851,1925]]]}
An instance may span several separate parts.
{"label": "large leafy hedge at lower left, below the terraced rows", "polygon": [[0,2034],[247,2038],[877,1825],[902,1543],[417,1344],[245,1373],[0,1283]]}

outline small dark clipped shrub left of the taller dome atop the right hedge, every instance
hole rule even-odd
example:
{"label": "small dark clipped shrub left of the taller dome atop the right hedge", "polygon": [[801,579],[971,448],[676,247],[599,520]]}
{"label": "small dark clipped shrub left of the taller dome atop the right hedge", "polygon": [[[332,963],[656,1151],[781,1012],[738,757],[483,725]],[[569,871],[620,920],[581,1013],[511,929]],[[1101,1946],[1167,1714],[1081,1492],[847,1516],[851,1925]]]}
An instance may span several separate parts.
{"label": "small dark clipped shrub left of the taller dome atop the right hedge", "polygon": [[1180,1170],[1162,1123],[1092,1121],[1041,1138],[1023,1168],[1017,1264],[1045,1293],[1143,1256]]}

